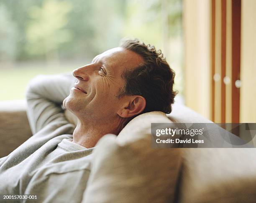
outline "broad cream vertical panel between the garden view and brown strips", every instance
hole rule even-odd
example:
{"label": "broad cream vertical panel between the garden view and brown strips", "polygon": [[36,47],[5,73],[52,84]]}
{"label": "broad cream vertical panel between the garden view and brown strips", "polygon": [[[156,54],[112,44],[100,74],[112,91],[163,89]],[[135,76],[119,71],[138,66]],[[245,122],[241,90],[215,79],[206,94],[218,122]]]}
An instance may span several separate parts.
{"label": "broad cream vertical panel between the garden view and brown strips", "polygon": [[185,103],[210,115],[210,0],[184,0]]}

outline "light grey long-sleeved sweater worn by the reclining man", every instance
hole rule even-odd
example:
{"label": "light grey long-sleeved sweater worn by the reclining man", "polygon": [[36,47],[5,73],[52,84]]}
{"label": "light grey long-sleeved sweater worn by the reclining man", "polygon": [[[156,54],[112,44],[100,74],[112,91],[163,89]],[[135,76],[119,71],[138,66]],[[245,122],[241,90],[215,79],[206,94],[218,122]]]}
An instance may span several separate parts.
{"label": "light grey long-sleeved sweater worn by the reclining man", "polygon": [[75,126],[61,108],[74,82],[70,74],[39,75],[28,85],[33,136],[0,159],[0,194],[37,195],[32,202],[40,203],[82,201],[93,148],[71,142]]}

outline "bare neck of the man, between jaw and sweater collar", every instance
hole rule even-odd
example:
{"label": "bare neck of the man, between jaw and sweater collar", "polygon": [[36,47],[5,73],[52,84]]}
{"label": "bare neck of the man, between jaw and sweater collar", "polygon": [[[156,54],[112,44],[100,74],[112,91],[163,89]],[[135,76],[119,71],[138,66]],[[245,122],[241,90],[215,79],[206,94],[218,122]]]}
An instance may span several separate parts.
{"label": "bare neck of the man, between jaw and sweater collar", "polygon": [[123,129],[124,120],[117,120],[112,123],[88,123],[78,120],[77,127],[73,133],[73,142],[85,148],[92,148],[103,135],[112,133],[118,135]]}

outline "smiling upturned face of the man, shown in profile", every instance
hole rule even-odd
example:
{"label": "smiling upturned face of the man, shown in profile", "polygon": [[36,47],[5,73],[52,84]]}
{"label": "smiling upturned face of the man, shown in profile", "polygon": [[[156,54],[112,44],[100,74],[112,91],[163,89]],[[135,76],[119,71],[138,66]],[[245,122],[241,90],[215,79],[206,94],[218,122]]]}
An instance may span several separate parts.
{"label": "smiling upturned face of the man, shown in profile", "polygon": [[77,78],[74,88],[63,101],[64,107],[72,111],[79,119],[111,119],[122,106],[118,99],[120,88],[125,85],[121,77],[123,71],[136,68],[143,58],[124,48],[113,48],[97,55],[92,63],[73,71]]}

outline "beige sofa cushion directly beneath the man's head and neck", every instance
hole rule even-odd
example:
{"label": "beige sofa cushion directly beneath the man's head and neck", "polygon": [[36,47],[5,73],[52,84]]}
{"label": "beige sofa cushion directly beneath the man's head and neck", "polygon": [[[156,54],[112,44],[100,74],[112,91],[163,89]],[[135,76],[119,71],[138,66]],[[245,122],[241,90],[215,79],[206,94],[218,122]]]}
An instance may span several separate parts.
{"label": "beige sofa cushion directly beneath the man's head and neck", "polygon": [[151,123],[170,122],[164,113],[145,113],[128,123],[118,137],[102,137],[92,153],[83,202],[172,202],[180,149],[152,148],[150,130]]}

